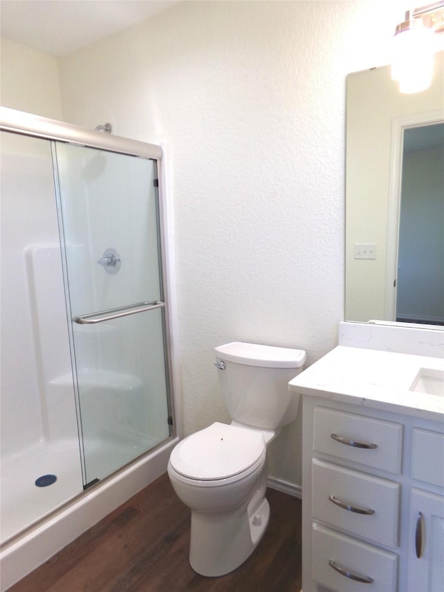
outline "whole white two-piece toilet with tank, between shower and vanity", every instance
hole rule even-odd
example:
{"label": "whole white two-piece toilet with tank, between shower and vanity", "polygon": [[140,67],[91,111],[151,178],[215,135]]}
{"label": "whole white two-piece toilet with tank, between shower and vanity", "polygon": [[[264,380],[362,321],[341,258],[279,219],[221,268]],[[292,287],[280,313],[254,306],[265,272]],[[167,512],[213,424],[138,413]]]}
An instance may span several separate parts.
{"label": "whole white two-piece toilet with tank, between shower and vanity", "polygon": [[266,530],[266,446],[296,419],[299,396],[288,382],[305,363],[305,351],[289,348],[234,342],[214,352],[232,422],[183,439],[168,464],[174,490],[191,508],[189,562],[206,576],[239,567]]}

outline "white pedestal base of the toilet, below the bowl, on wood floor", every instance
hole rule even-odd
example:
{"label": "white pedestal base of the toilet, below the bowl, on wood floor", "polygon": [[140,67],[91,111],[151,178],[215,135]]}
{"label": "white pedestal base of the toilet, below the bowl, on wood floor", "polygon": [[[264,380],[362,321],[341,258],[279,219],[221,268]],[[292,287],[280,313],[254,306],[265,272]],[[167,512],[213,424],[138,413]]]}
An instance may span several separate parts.
{"label": "white pedestal base of the toilet, below the bowl, on wood floor", "polygon": [[251,500],[224,514],[191,512],[189,563],[200,575],[218,577],[238,568],[262,539],[270,506],[263,498],[258,507]]}

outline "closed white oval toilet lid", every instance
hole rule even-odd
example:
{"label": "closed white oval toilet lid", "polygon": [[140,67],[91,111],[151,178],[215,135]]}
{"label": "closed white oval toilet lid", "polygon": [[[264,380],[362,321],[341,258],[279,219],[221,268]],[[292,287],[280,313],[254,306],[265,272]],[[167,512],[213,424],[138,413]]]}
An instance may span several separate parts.
{"label": "closed white oval toilet lid", "polygon": [[261,432],[216,422],[179,442],[170,462],[175,471],[191,479],[225,479],[250,468],[264,448]]}

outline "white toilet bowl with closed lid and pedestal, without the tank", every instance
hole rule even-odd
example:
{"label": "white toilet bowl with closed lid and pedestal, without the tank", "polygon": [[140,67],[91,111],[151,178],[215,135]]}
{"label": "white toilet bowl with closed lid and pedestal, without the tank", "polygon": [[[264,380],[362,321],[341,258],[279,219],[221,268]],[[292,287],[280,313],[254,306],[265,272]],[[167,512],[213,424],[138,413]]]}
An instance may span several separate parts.
{"label": "white toilet bowl with closed lid and pedestal, without the tank", "polygon": [[237,568],[259,543],[270,514],[261,432],[213,423],[174,448],[168,474],[191,509],[191,567],[212,577]]}

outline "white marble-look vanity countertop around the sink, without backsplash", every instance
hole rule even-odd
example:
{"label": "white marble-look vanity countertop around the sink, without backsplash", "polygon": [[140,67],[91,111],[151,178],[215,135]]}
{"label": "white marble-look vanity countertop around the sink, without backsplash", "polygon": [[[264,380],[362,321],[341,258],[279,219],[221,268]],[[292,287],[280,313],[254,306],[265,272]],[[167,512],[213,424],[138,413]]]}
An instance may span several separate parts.
{"label": "white marble-look vanity countertop around the sink, without backsplash", "polygon": [[420,368],[443,371],[444,360],[338,346],[289,382],[289,389],[374,409],[444,421],[443,395],[410,391]]}

